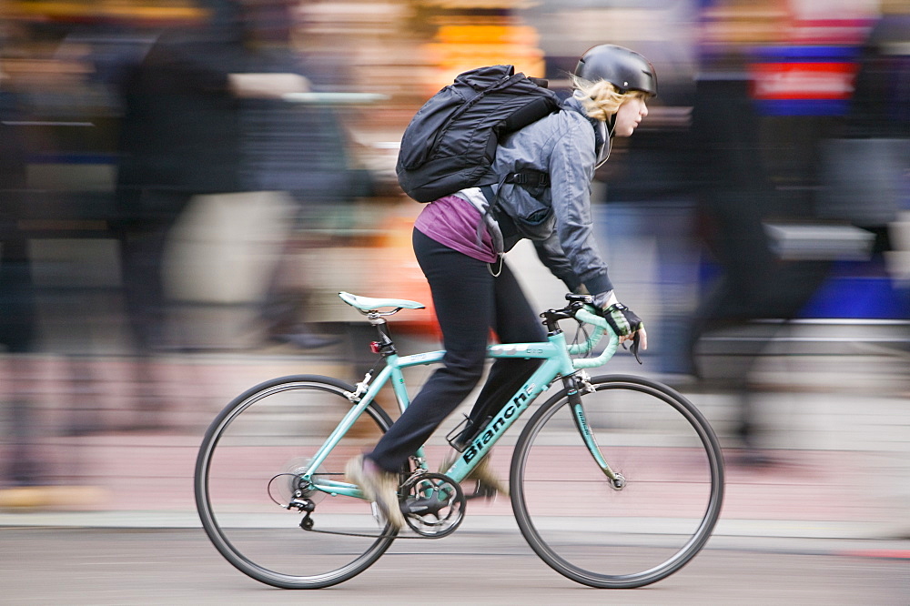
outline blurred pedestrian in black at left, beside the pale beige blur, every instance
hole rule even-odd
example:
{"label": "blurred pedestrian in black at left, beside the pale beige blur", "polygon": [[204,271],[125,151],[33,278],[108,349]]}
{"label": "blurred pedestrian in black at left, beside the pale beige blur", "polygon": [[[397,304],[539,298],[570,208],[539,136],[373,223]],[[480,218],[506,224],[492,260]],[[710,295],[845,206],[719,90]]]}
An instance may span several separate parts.
{"label": "blurred pedestrian in black at left, beside the pale beige blur", "polygon": [[139,425],[157,424],[164,406],[148,357],[167,344],[167,235],[192,197],[239,190],[238,102],[229,75],[243,59],[240,6],[207,0],[203,7],[204,23],[167,29],[121,84],[116,231],[139,356]]}

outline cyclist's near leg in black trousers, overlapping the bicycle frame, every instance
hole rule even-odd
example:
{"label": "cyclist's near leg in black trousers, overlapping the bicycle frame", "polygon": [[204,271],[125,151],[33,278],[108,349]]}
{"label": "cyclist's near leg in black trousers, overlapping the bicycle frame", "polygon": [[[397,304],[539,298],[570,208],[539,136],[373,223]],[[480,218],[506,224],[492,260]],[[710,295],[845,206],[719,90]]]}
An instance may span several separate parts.
{"label": "cyclist's near leg in black trousers, overlapping the bicycle frame", "polygon": [[367,455],[387,471],[399,470],[477,385],[496,307],[493,277],[486,263],[416,229],[414,251],[430,282],[446,354],[443,366]]}

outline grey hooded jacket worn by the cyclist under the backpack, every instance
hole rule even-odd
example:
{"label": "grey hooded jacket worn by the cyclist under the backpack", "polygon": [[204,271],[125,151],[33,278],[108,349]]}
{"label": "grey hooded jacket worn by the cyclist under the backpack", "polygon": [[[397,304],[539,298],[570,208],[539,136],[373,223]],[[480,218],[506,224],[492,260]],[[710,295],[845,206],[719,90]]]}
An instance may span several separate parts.
{"label": "grey hooded jacket worn by the cyclist under the backpack", "polygon": [[[612,290],[591,224],[594,167],[610,145],[609,137],[598,134],[599,128],[570,97],[561,111],[503,139],[493,164],[497,175],[525,169],[549,173],[550,187],[509,183],[494,187],[498,206],[511,217],[518,236],[533,241],[554,276],[572,291],[583,286],[595,295]],[[507,231],[502,219],[500,223]],[[517,239],[507,236],[506,249]]]}

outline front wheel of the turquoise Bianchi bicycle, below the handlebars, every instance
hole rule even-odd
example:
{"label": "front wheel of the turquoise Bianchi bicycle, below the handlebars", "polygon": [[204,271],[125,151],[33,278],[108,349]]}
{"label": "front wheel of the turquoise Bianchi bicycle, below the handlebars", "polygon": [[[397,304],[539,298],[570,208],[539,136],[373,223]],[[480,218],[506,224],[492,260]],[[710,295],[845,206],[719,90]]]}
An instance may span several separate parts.
{"label": "front wheel of the turquoise Bianchi bicycle, below the handlebars", "polygon": [[[590,380],[581,409],[562,390],[515,447],[511,501],[541,559],[591,587],[641,587],[678,571],[711,536],[723,500],[723,457],[701,412],[660,383]],[[608,479],[581,438],[583,415]]]}

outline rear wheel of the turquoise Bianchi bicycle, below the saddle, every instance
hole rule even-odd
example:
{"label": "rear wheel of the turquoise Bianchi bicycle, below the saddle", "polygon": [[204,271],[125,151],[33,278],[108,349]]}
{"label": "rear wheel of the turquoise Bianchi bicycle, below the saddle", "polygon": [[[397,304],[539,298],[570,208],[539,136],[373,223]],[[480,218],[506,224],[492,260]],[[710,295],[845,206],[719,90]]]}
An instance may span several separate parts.
{"label": "rear wheel of the turquoise Bianchi bicycle, below the saddle", "polygon": [[[316,503],[313,530],[300,528],[302,512],[281,507],[295,470],[350,409],[344,392],[353,389],[324,377],[274,379],[238,396],[209,427],[196,465],[199,517],[217,550],[257,581],[328,587],[366,570],[394,540],[376,538],[389,532],[365,500],[307,492]],[[319,467],[321,478],[343,481],[347,460],[389,429],[384,411],[370,405],[366,412]]]}

